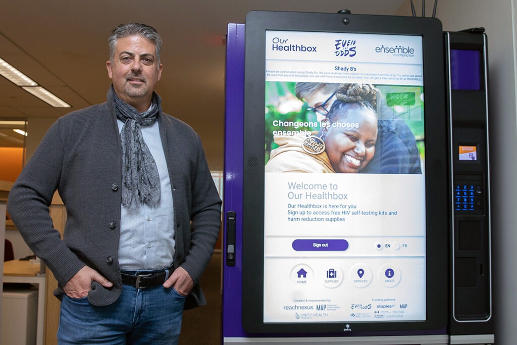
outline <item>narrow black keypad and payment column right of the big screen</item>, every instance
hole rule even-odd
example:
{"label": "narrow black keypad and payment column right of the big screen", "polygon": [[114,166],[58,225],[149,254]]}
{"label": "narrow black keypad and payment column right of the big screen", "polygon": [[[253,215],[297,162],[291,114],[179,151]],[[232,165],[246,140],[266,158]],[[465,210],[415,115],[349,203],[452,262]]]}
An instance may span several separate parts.
{"label": "narrow black keypad and payment column right of the big screen", "polygon": [[487,47],[483,28],[445,33],[453,196],[450,329],[460,339],[493,332]]}

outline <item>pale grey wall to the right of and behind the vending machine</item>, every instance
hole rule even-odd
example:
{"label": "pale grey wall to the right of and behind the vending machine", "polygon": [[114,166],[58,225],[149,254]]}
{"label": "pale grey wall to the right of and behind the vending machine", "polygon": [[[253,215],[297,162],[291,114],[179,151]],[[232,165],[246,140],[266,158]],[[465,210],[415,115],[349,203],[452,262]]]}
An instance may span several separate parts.
{"label": "pale grey wall to the right of and behind the vending machine", "polygon": [[[421,1],[414,1],[417,13]],[[428,1],[426,14],[432,13]],[[410,14],[407,1],[400,13]],[[492,274],[495,341],[517,343],[517,0],[439,1],[444,31],[482,26],[489,47],[489,136],[492,193]]]}

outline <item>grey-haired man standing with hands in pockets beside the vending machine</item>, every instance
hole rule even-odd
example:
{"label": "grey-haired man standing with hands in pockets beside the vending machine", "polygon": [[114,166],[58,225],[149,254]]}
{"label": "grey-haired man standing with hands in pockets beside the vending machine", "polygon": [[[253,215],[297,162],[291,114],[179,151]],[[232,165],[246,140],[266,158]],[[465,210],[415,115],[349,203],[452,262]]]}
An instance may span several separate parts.
{"label": "grey-haired man standing with hands in pockets beside the vending machine", "polygon": [[[107,102],[57,120],[14,184],[9,214],[54,273],[59,344],[175,344],[219,233],[221,200],[199,136],[161,110],[161,38],[109,38]],[[49,205],[67,209],[63,241]]]}

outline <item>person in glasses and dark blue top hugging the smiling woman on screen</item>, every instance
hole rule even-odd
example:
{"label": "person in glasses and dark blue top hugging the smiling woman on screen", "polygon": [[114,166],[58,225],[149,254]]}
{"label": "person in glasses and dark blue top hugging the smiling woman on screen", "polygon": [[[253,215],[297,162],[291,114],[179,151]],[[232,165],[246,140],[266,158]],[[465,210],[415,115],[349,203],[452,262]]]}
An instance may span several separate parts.
{"label": "person in glasses and dark blue top hugging the smiling woman on screen", "polygon": [[[337,83],[296,83],[295,93],[307,102],[319,122],[336,101]],[[378,104],[378,103],[377,103]],[[381,108],[382,109],[382,108]],[[379,112],[379,111],[377,111]],[[381,117],[381,114],[378,114]],[[403,121],[379,118],[375,155],[361,173],[421,174],[421,163],[414,134]]]}

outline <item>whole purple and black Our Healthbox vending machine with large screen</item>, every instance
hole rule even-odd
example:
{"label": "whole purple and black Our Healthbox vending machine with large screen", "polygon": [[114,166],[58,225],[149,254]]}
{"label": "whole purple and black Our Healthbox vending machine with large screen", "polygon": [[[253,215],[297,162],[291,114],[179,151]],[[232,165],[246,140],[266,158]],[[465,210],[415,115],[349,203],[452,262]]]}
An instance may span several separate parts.
{"label": "whole purple and black Our Healthbox vending machine with large screen", "polygon": [[223,343],[493,343],[485,64],[434,18],[229,24]]}

